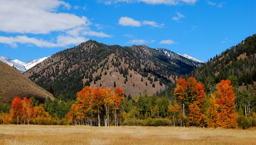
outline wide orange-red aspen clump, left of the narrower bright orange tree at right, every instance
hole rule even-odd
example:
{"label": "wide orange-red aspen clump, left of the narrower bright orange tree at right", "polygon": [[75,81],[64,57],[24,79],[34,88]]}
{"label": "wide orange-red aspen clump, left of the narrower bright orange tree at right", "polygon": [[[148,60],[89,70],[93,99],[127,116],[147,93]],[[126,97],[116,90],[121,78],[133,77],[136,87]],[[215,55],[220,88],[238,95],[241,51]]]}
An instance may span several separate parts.
{"label": "wide orange-red aspen clump, left of the narrower bright orange tree at right", "polygon": [[[205,108],[205,88],[201,82],[197,82],[194,77],[177,80],[177,86],[174,89],[174,95],[180,102],[182,117],[180,116],[180,125],[185,124],[202,126],[204,124]],[[197,108],[195,110],[195,108]]]}

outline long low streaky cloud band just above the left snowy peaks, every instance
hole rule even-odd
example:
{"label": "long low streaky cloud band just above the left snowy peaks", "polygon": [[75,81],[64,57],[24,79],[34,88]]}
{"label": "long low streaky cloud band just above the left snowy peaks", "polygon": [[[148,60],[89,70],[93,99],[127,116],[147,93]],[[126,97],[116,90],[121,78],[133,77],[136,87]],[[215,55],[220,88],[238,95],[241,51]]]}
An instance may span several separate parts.
{"label": "long low streaky cloud band just above the left snowy peaks", "polygon": [[29,44],[35,45],[37,47],[66,47],[70,44],[77,45],[79,43],[87,41],[84,37],[72,37],[72,36],[63,36],[60,35],[57,37],[57,43],[44,41],[43,39],[38,39],[34,37],[23,36],[15,36],[15,37],[4,37],[0,36],[0,43],[8,44],[12,47],[17,47],[17,44]]}

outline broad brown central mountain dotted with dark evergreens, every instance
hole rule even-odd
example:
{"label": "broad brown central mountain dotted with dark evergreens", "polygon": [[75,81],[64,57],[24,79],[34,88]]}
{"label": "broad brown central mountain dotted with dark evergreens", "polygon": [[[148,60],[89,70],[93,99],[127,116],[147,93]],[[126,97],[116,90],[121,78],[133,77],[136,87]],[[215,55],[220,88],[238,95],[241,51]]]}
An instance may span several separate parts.
{"label": "broad brown central mountain dotted with dark evergreens", "polygon": [[70,99],[75,99],[84,85],[110,90],[119,86],[126,95],[139,95],[143,90],[154,94],[202,64],[166,49],[87,41],[52,55],[25,76]]}

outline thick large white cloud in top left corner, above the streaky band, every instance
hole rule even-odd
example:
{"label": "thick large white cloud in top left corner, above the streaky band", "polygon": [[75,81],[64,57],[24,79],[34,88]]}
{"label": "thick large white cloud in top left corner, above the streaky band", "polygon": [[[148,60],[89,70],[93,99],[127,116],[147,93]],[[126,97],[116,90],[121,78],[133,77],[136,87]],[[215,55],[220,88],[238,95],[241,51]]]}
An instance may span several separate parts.
{"label": "thick large white cloud in top left corner, above the streaky band", "polygon": [[49,34],[79,26],[88,26],[86,17],[70,13],[57,13],[57,9],[70,5],[59,0],[2,0],[0,1],[0,31],[21,34]]}

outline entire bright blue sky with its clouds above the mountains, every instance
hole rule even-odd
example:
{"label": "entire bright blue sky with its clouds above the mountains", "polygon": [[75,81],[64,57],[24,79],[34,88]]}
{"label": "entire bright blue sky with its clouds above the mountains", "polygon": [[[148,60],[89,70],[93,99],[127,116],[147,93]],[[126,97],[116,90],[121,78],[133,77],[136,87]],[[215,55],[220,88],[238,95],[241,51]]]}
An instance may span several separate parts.
{"label": "entire bright blue sky with its clouds above the mountains", "polygon": [[2,0],[0,56],[29,61],[93,39],[213,58],[256,34],[256,1]]}

